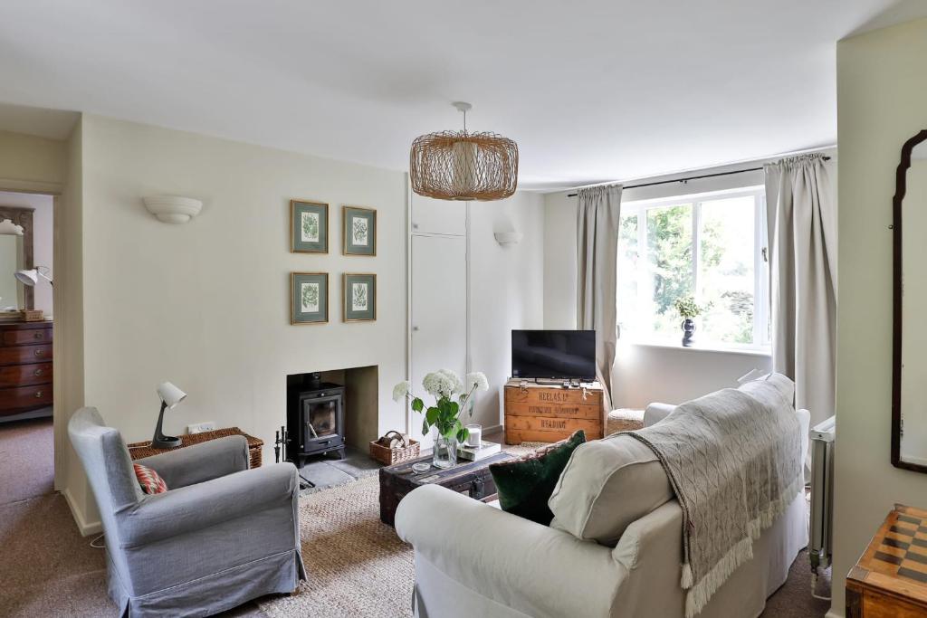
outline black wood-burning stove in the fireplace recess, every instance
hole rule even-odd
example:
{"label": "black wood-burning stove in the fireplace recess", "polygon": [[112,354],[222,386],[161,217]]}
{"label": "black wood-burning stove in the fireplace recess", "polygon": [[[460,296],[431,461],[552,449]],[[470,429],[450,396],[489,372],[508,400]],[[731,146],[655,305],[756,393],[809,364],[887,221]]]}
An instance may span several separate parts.
{"label": "black wood-burning stove in the fireplace recess", "polygon": [[301,466],[311,455],[345,457],[345,387],[310,379],[286,388],[286,458]]}

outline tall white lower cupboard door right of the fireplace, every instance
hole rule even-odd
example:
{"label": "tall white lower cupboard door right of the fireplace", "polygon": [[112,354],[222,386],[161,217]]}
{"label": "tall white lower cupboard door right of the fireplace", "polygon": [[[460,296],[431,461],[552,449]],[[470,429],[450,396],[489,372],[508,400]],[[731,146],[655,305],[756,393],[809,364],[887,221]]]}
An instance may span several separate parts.
{"label": "tall white lower cupboard door right of the fireplace", "polygon": [[[464,205],[459,205],[463,210]],[[466,237],[412,237],[412,381],[413,393],[425,400],[425,373],[450,369],[463,379],[466,370]],[[422,435],[424,416],[410,409],[411,436],[431,446]]]}

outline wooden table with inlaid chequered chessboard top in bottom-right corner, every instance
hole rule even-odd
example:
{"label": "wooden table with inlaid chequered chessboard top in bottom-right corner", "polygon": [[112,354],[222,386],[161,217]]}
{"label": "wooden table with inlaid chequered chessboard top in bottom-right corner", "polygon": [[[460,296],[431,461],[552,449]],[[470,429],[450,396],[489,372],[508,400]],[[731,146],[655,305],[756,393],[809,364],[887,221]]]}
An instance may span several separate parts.
{"label": "wooden table with inlaid chequered chessboard top in bottom-right corner", "polygon": [[846,618],[927,615],[927,511],[895,505],[846,575]]}

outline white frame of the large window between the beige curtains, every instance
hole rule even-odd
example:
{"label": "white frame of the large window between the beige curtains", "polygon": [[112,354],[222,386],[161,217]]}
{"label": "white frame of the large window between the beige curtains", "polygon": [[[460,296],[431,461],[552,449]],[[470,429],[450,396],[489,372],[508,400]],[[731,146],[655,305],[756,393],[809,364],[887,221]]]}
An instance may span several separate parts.
{"label": "white frame of the large window between the beige curtains", "polygon": [[[650,259],[647,254],[647,211],[656,208],[671,208],[674,206],[692,206],[692,283],[695,290],[695,299],[699,298],[699,261],[701,259],[702,244],[700,231],[702,222],[702,204],[718,199],[735,197],[754,198],[754,324],[753,343],[739,344],[723,341],[707,341],[704,345],[696,343],[695,347],[686,348],[679,344],[679,340],[668,339],[654,333],[634,333],[629,336],[622,333],[621,322],[618,322],[620,338],[625,338],[631,344],[659,347],[679,347],[680,349],[718,350],[730,352],[760,352],[768,354],[771,350],[770,341],[770,301],[769,301],[769,263],[768,263],[768,221],[766,214],[766,189],[762,184],[722,189],[718,191],[705,191],[697,194],[672,195],[651,199],[630,200],[621,205],[621,218],[637,216],[637,246],[638,246],[638,312],[636,322],[643,323],[642,314],[650,306],[647,297],[653,291]],[[619,240],[620,242],[620,240]],[[621,257],[620,247],[618,259]],[[618,269],[617,276],[621,276]],[[620,286],[616,291],[620,290]],[[621,306],[617,303],[620,317]],[[681,334],[680,334],[681,336]],[[698,341],[696,339],[696,341]]]}

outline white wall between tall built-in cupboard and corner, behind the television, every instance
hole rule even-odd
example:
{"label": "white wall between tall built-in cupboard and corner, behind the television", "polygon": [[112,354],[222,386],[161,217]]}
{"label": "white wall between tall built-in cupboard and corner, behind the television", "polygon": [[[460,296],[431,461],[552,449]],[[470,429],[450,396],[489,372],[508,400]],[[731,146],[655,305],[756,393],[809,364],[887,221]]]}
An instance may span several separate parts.
{"label": "white wall between tall built-in cupboard and corner, behind the television", "polygon": [[[470,204],[470,357],[489,379],[476,399],[473,422],[502,423],[502,386],[512,372],[512,330],[543,328],[543,197],[516,193]],[[494,232],[520,232],[518,245],[500,246]]]}

